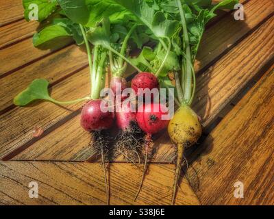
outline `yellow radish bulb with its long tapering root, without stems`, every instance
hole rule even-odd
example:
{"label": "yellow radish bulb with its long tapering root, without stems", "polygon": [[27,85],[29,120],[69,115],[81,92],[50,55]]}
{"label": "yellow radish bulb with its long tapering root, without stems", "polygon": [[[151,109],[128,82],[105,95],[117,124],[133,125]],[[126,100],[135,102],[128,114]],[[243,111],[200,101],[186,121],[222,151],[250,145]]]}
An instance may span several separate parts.
{"label": "yellow radish bulb with its long tapering root, without stems", "polygon": [[177,166],[173,183],[173,196],[171,203],[174,205],[177,192],[177,183],[184,158],[184,149],[195,144],[201,137],[201,124],[197,114],[187,105],[182,105],[169,122],[169,136],[177,144]]}

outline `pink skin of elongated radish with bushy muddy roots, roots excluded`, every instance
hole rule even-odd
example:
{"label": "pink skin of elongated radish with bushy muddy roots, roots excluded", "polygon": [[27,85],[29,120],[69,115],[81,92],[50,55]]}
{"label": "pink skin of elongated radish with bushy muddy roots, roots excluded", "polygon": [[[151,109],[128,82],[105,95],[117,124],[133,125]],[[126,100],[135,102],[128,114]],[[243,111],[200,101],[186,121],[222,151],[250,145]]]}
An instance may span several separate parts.
{"label": "pink skin of elongated radish with bushy muddy roots, roots excluded", "polygon": [[119,129],[127,131],[131,129],[131,123],[136,122],[136,112],[131,111],[132,110],[130,102],[128,102],[127,104],[121,104],[121,109],[119,109],[119,112],[116,112],[116,124]]}

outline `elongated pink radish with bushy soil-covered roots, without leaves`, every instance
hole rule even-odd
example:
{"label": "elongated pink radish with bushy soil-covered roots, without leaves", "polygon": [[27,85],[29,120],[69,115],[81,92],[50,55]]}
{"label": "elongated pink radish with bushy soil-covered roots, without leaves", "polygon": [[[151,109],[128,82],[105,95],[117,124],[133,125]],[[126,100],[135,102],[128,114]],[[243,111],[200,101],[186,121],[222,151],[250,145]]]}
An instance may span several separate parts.
{"label": "elongated pink radish with bushy soil-covered roots, without leaves", "polygon": [[129,162],[140,163],[144,133],[137,125],[136,112],[132,110],[132,103],[124,101],[116,107],[115,114],[116,125],[121,129],[116,138],[116,151]]}

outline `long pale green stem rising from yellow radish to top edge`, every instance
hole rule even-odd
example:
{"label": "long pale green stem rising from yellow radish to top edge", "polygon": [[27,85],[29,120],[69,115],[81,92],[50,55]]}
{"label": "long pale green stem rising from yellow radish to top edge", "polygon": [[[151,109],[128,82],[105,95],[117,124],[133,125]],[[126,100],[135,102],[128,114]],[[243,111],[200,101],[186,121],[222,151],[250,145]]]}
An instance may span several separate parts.
{"label": "long pale green stem rising from yellow radish to top edge", "polygon": [[[182,4],[180,0],[177,0],[177,5],[179,7],[179,12],[182,19],[182,27],[183,27],[183,34],[184,34],[184,44],[186,47],[186,57],[191,60],[191,51],[190,51],[190,43],[189,43],[189,36],[188,36],[188,28],[186,25],[186,16],[184,14],[184,10],[182,8]],[[184,60],[183,60],[184,62]],[[192,64],[186,62],[186,81],[185,81],[185,89],[184,89],[184,99],[188,103],[191,99],[192,95]]]}

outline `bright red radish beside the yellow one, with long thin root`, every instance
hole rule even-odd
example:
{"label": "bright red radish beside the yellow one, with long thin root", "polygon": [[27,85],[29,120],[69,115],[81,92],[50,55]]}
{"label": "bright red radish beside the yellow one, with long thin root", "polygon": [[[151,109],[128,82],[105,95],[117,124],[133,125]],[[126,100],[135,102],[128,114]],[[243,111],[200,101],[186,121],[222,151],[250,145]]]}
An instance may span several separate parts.
{"label": "bright red radish beside the yellow one, with long thin root", "polygon": [[164,112],[166,109],[166,105],[160,103],[149,103],[143,104],[139,107],[138,112],[136,114],[137,123],[142,129],[145,131],[145,166],[142,172],[142,180],[140,183],[140,187],[136,194],[136,198],[138,198],[138,194],[142,188],[142,183],[145,179],[145,173],[147,172],[147,159],[148,155],[151,154],[150,144],[151,144],[151,136],[155,133],[158,133],[164,130],[169,125],[169,120],[164,120],[162,116],[168,116],[169,112]]}

